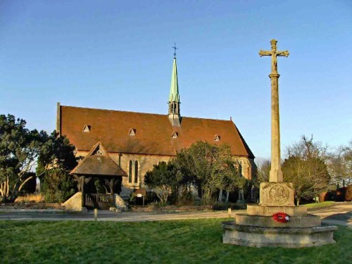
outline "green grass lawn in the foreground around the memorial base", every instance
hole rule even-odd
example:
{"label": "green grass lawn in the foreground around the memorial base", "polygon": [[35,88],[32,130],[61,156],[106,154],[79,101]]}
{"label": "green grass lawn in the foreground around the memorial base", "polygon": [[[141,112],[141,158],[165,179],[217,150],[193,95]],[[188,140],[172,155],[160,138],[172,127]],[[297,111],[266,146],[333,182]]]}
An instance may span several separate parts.
{"label": "green grass lawn in the foreground around the memorial base", "polygon": [[352,263],[352,230],[337,244],[248,248],[222,244],[227,219],[160,222],[0,221],[1,263]]}

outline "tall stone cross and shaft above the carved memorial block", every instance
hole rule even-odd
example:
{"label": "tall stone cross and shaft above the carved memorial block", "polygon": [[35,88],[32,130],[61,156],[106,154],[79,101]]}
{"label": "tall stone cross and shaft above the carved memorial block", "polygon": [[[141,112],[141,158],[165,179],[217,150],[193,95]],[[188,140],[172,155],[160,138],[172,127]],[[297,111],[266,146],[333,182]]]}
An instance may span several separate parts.
{"label": "tall stone cross and shaft above the carved memorial block", "polygon": [[259,51],[261,56],[271,56],[271,169],[269,182],[283,182],[280,154],[279,123],[279,73],[277,73],[277,56],[289,56],[289,51],[277,51],[277,40],[272,39],[271,51]]}

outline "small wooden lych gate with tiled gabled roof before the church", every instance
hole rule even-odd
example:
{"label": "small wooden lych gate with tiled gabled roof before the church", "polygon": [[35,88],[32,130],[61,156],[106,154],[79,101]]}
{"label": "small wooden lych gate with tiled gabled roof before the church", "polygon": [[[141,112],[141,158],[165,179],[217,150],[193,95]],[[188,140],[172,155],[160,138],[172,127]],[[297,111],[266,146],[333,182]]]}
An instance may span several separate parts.
{"label": "small wooden lych gate with tiled gabled roof before the church", "polygon": [[[70,175],[75,177],[78,191],[82,192],[82,207],[101,209],[115,206],[115,194],[118,194],[122,177],[127,177],[127,173],[113,161],[100,142],[93,146]],[[92,187],[95,180],[104,183],[105,194],[94,194],[92,188],[87,188],[89,185]]]}

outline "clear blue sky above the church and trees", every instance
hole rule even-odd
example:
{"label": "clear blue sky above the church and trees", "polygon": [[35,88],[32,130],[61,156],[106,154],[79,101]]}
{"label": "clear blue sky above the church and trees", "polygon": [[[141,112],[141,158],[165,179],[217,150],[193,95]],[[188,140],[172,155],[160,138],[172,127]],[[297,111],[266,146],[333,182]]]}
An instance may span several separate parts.
{"label": "clear blue sky above the church and trees", "polygon": [[352,139],[352,1],[0,1],[0,113],[51,132],[65,106],[167,113],[172,46],[184,116],[232,116],[270,157],[270,49],[282,151]]}

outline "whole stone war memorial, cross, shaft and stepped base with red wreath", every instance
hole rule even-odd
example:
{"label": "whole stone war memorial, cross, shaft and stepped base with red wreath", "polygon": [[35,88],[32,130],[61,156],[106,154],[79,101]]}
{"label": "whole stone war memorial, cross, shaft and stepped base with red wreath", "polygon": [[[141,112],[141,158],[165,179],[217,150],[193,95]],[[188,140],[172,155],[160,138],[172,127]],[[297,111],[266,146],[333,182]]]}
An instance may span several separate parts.
{"label": "whole stone war memorial, cross, shaft and stepped base with red wreath", "polygon": [[271,51],[259,51],[271,56],[271,169],[269,182],[260,184],[260,203],[248,205],[246,213],[236,213],[234,222],[223,222],[225,244],[241,246],[281,246],[300,248],[336,243],[335,226],[321,225],[318,215],[308,215],[307,208],[294,205],[294,189],[283,182],[279,130],[279,73],[277,56],[289,56],[289,51],[277,51],[272,39]]}

